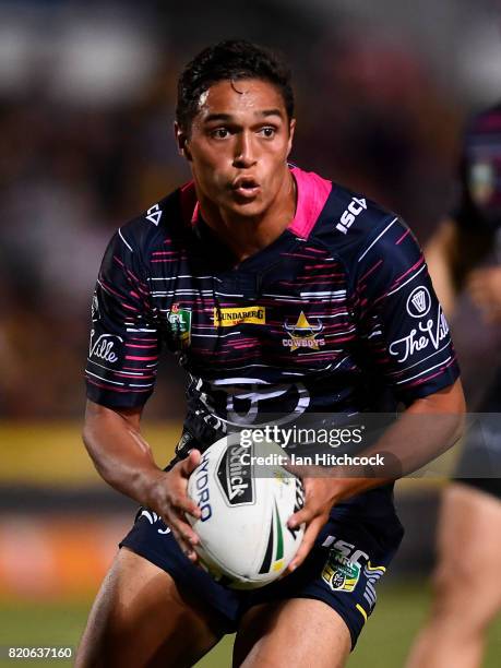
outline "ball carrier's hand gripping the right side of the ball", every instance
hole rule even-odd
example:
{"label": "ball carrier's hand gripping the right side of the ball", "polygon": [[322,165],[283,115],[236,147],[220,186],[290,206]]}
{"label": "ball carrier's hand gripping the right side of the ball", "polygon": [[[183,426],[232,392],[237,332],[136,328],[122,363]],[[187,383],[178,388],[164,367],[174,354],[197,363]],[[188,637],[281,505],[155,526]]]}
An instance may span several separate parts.
{"label": "ball carrier's hand gripping the right side of the ball", "polygon": [[306,524],[299,550],[287,566],[286,573],[291,573],[307,558],[314,545],[317,536],[322,526],[327,522],[332,506],[338,498],[338,486],[341,480],[333,478],[303,478],[305,506],[291,515],[287,522],[290,528]]}

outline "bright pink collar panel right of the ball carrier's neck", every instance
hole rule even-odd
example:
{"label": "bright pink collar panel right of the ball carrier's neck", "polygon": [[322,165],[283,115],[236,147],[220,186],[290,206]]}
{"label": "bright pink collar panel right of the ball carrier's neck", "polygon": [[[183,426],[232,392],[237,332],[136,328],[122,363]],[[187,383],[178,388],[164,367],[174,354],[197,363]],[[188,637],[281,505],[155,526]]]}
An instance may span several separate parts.
{"label": "bright pink collar panel right of the ball carrier's neck", "polygon": [[332,183],[299,167],[294,167],[291,171],[298,187],[298,204],[288,229],[298,237],[308,239],[331,194]]}

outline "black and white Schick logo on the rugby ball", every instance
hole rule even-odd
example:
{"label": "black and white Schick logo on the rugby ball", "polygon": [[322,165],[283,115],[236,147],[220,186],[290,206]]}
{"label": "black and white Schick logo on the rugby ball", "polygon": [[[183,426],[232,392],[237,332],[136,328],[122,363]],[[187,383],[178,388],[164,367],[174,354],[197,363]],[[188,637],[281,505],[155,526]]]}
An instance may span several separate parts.
{"label": "black and white Schick logo on the rugby ball", "polygon": [[240,443],[228,445],[217,465],[217,480],[229,505],[249,505],[254,502],[252,465],[243,464],[252,461],[252,450]]}

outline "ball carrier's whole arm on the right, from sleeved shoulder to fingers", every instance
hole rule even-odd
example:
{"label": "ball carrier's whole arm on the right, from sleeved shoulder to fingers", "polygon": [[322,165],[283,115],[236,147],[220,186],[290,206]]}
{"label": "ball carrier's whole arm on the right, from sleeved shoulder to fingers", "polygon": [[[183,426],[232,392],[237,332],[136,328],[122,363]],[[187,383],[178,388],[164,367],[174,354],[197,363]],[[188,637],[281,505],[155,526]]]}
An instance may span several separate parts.
{"label": "ball carrier's whole arm on the right, from sleeved shoulder to fingers", "polygon": [[374,468],[303,472],[305,508],[289,518],[289,526],[305,522],[307,529],[289,570],[308,554],[334,504],[417,470],[451,448],[463,430],[465,399],[449,326],[408,227],[398,218],[374,225],[354,273],[367,372],[391,387],[406,410],[357,453],[379,455]]}

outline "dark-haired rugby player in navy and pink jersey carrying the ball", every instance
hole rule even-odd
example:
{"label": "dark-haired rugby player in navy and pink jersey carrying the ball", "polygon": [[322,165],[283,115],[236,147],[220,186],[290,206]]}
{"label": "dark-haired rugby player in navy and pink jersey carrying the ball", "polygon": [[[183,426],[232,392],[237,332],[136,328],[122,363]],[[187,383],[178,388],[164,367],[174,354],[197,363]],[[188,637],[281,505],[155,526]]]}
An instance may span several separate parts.
{"label": "dark-haired rugby player in navy and pink jersey carrying the ball", "polygon": [[[458,429],[455,354],[414,236],[363,195],[288,164],[295,126],[281,61],[240,40],[205,49],[178,90],[176,139],[193,180],[106,251],[84,441],[103,478],[142,509],[94,604],[79,667],[191,666],[232,631],[236,666],[343,666],[402,539],[394,476],[306,477],[305,508],[289,520],[307,525],[299,552],[285,577],[252,592],[196,565],[184,513],[200,509],[187,479],[217,438],[270,414],[294,421],[399,402],[404,416],[453,415],[433,453]],[[188,372],[166,470],[140,432],[162,346]],[[396,468],[415,467],[420,437],[389,432]]]}

